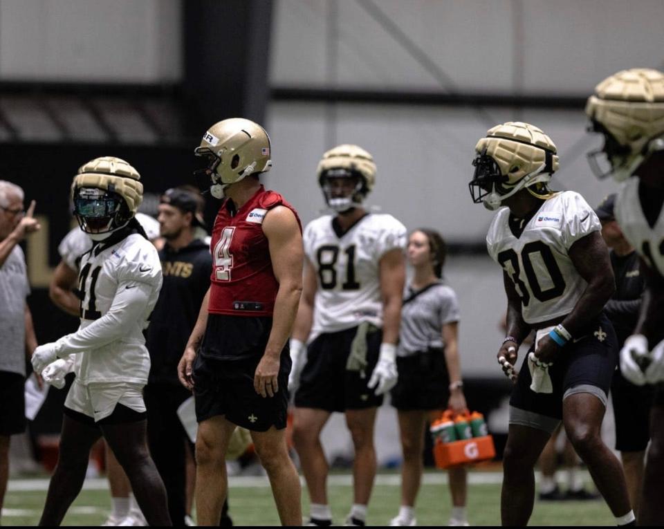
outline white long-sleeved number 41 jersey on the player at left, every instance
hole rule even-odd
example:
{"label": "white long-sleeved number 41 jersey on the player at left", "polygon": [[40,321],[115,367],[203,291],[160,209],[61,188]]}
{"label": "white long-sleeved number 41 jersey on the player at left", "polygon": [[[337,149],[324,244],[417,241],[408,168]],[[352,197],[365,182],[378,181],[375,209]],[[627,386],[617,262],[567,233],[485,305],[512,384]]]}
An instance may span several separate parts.
{"label": "white long-sleeved number 41 jersey on the player at left", "polygon": [[55,342],[59,357],[77,353],[79,382],[147,383],[150,357],[143,330],[161,284],[157,250],[140,234],[111,245],[102,241],[83,255],[81,324]]}

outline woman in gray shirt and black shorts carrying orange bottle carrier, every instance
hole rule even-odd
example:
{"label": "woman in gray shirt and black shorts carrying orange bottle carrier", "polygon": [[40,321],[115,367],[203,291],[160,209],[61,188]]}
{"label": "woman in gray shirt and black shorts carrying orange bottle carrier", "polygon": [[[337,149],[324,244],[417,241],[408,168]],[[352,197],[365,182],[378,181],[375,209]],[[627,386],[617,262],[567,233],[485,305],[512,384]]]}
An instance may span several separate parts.
{"label": "woman in gray shirt and black shorts carrying orange bottle carrier", "polygon": [[[438,232],[420,228],[410,234],[407,259],[414,274],[401,310],[399,378],[391,393],[403,447],[401,507],[391,526],[415,525],[427,419],[438,418],[443,409],[455,413],[466,409],[457,346],[459,304],[454,290],[441,281],[445,254],[445,241]],[[465,468],[448,472],[452,494],[448,525],[467,526]]]}

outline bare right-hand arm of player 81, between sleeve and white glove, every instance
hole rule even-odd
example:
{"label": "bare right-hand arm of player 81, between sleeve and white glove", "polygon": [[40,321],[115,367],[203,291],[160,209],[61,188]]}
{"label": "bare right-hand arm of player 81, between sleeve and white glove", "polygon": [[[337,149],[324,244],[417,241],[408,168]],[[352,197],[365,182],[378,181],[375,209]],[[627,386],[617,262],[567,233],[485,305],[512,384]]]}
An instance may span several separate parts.
{"label": "bare right-hand arm of player 81, between sleeve and white glove", "polygon": [[380,297],[382,298],[382,342],[396,344],[401,323],[401,301],[406,280],[403,250],[395,248],[380,258]]}

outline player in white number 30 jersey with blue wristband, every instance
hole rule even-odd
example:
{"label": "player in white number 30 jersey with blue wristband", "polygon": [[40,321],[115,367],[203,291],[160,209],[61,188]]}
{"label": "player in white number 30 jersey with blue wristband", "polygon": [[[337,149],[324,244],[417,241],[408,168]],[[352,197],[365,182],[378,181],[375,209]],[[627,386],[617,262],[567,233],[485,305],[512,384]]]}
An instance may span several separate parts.
{"label": "player in white number 30 jersey with blue wristband", "polygon": [[[537,127],[497,125],[475,151],[472,199],[499,210],[486,236],[508,298],[507,336],[497,357],[515,381],[502,522],[526,525],[531,517],[533,468],[562,419],[618,525],[633,523],[623,468],[600,437],[618,360],[614,328],[602,313],[615,284],[600,221],[580,194],[548,188],[558,156]],[[519,344],[531,329],[535,342],[517,373]]]}

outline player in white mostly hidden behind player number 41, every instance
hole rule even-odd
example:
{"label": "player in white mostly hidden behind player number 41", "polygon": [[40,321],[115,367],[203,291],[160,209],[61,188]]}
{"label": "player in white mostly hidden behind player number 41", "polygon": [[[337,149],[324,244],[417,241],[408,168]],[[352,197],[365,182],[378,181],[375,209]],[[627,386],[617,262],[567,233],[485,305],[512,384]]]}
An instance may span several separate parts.
{"label": "player in white mostly hidden behind player number 41", "polygon": [[[159,223],[153,217],[144,213],[136,213],[136,220],[145,230],[147,238],[156,244],[159,239]],[[80,315],[81,300],[78,297],[78,273],[83,254],[92,247],[93,241],[80,227],[70,230],[60,241],[57,252],[60,254],[60,262],[55,267],[53,277],[48,285],[48,297],[53,303],[64,310],[64,312],[73,316]],[[52,368],[53,369],[53,368]],[[54,371],[64,376],[64,371]],[[50,370],[47,373],[47,380],[55,387],[64,387],[64,378],[57,380],[50,377]],[[113,451],[109,445],[104,443],[106,453],[106,471],[109,479],[109,489],[113,506],[109,517],[102,526],[118,526],[125,522],[132,526],[147,526],[145,517],[143,517],[131,493],[131,485],[127,475],[124,474],[122,466],[118,463]],[[126,525],[126,523],[125,523]]]}

